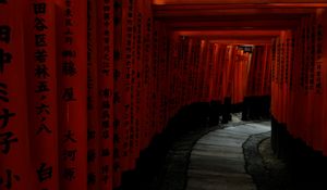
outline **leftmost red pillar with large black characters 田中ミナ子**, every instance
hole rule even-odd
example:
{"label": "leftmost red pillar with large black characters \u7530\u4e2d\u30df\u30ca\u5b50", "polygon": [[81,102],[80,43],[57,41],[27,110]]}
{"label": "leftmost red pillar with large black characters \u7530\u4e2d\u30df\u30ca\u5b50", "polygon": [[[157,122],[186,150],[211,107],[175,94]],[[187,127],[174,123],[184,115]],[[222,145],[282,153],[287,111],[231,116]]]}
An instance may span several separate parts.
{"label": "leftmost red pillar with large black characters \u7530\u4e2d\u30df\u30ca\u5b50", "polygon": [[19,0],[0,1],[1,190],[31,185],[23,8]]}

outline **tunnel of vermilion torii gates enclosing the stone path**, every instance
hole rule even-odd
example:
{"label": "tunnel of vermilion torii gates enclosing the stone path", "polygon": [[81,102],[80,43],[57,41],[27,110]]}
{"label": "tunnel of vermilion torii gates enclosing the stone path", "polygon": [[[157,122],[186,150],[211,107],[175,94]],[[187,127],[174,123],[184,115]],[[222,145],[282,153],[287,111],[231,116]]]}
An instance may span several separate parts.
{"label": "tunnel of vermilion torii gates enclosing the stone path", "polygon": [[327,0],[0,0],[0,190],[124,189],[233,118],[327,169]]}

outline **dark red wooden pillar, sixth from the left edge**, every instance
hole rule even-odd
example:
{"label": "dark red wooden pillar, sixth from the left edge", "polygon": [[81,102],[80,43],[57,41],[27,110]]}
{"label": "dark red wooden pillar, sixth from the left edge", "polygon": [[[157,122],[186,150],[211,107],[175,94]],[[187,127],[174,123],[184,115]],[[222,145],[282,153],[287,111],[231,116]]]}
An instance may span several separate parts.
{"label": "dark red wooden pillar, sixth from the left edge", "polygon": [[[131,127],[131,68],[134,4],[114,1],[114,151],[113,187],[121,183],[122,172],[129,168],[129,129]],[[128,24],[129,22],[129,24]],[[129,31],[128,31],[129,28]]]}

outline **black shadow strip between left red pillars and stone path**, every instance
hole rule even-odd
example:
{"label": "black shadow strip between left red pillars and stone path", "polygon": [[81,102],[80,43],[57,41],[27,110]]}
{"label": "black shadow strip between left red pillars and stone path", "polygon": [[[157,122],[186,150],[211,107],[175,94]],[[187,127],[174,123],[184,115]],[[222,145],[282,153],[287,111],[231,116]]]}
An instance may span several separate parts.
{"label": "black shadow strip between left red pillars and stone path", "polygon": [[[208,116],[213,115],[210,112],[216,112],[206,102],[182,107],[169,121],[165,130],[153,139],[146,150],[141,152],[136,169],[123,174],[122,186],[117,190],[183,189],[186,182],[187,157],[196,140],[204,135],[203,132],[209,130]],[[175,149],[183,149],[182,157],[169,155]],[[174,160],[171,161],[171,159]],[[174,169],[178,175],[171,178],[171,174],[167,174],[169,169]],[[169,176],[170,179],[167,179]],[[173,182],[173,188],[169,187],[171,182]]]}

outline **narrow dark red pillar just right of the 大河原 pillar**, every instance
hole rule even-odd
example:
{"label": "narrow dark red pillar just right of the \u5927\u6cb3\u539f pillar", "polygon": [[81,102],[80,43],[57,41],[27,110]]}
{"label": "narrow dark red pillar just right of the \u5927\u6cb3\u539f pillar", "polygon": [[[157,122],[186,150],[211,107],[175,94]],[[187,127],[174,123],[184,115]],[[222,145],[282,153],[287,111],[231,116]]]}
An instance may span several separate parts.
{"label": "narrow dark red pillar just right of the \u5927\u6cb3\u539f pillar", "polygon": [[98,190],[99,182],[99,102],[97,3],[87,0],[87,189]]}

